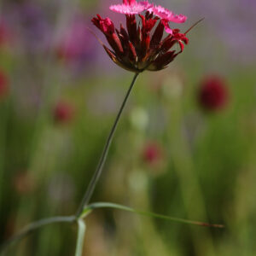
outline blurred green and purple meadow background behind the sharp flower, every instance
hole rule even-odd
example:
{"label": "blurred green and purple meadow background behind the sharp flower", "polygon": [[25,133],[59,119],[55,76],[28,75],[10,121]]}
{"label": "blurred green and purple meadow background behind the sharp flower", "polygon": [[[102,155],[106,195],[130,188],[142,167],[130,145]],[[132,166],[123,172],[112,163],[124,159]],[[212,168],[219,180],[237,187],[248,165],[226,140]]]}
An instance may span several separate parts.
{"label": "blurred green and purple meadow background behind the sharp flower", "polygon": [[[0,3],[0,241],[71,215],[96,169],[132,73],[91,35],[119,26],[119,1]],[[189,45],[145,72],[125,108],[92,201],[224,224],[212,229],[96,210],[84,255],[255,255],[256,2],[155,0],[188,16]],[[77,227],[54,224],[7,255],[73,255]]]}

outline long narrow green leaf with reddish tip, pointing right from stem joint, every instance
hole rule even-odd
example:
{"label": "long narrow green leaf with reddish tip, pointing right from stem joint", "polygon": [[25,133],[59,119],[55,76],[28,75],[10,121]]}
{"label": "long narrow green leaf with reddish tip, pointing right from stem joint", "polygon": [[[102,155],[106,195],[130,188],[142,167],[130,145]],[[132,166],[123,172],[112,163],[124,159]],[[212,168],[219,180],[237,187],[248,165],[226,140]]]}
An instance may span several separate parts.
{"label": "long narrow green leaf with reddish tip, pointing right from stem joint", "polygon": [[123,210],[126,212],[134,212],[134,213],[137,213],[137,214],[143,215],[143,216],[148,216],[148,217],[153,217],[153,218],[162,218],[162,219],[176,221],[176,222],[180,222],[180,223],[184,223],[184,224],[194,224],[194,225],[205,226],[205,227],[224,228],[223,224],[207,224],[207,223],[203,223],[200,221],[194,221],[194,220],[189,220],[189,219],[184,219],[184,218],[175,218],[175,217],[166,216],[166,215],[162,215],[162,214],[158,214],[158,213],[154,213],[154,212],[143,212],[143,211],[135,210],[131,207],[125,207],[125,206],[122,206],[119,204],[114,204],[111,202],[92,203],[92,204],[88,205],[87,207],[85,207],[83,212],[88,212],[89,210],[93,210],[93,209],[97,209],[97,208],[114,208],[114,209]]}

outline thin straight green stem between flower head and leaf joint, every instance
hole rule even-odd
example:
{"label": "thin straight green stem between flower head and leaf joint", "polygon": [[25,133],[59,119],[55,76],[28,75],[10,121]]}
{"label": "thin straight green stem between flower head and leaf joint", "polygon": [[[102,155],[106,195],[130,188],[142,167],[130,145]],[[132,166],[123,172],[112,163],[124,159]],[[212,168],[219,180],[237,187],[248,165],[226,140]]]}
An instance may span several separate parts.
{"label": "thin straight green stem between flower head and leaf joint", "polygon": [[84,198],[83,200],[81,201],[81,204],[79,206],[79,210],[76,214],[77,218],[79,218],[80,214],[83,212],[84,210],[84,207],[89,203],[90,201],[90,197],[91,195],[93,194],[94,192],[94,189],[96,187],[96,183],[98,182],[99,180],[99,177],[101,177],[101,174],[102,174],[102,168],[105,164],[105,161],[106,161],[106,158],[107,158],[107,155],[108,155],[108,149],[112,143],[112,139],[113,139],[113,134],[114,134],[114,131],[116,130],[116,127],[118,125],[118,122],[119,122],[119,118],[125,108],[125,103],[127,102],[127,99],[128,97],[130,96],[130,93],[131,93],[131,90],[133,88],[133,85],[135,84],[135,81],[137,79],[137,76],[138,76],[138,73],[135,73],[132,81],[131,81],[131,85],[128,89],[128,91],[126,92],[126,95],[125,95],[125,99],[119,109],[119,113],[117,114],[117,117],[116,119],[114,120],[114,123],[113,123],[113,127],[108,135],[108,140],[104,146],[104,149],[103,149],[103,152],[102,152],[102,156],[101,156],[101,159],[98,163],[98,166],[96,168],[96,172],[94,172],[93,174],[93,177],[90,179],[90,183],[89,183],[89,186],[87,188],[87,190],[85,191],[85,194],[84,194]]}

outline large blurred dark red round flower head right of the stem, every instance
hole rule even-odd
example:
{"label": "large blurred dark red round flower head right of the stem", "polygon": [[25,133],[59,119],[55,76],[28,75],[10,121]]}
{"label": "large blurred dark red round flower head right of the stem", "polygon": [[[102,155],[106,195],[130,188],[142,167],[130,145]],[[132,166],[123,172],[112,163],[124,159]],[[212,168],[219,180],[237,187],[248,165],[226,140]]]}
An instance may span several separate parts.
{"label": "large blurred dark red round flower head right of the stem", "polygon": [[224,108],[228,101],[228,89],[224,79],[218,76],[203,79],[198,99],[201,107],[207,110]]}

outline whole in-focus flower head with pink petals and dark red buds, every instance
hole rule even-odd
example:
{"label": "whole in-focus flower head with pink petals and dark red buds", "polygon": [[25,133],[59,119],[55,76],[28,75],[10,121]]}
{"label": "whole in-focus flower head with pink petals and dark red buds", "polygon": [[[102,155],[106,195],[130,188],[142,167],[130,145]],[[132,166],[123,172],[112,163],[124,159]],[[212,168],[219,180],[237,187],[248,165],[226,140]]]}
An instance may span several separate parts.
{"label": "whole in-focus flower head with pink petals and dark red buds", "polygon": [[[184,44],[189,43],[186,33],[169,26],[169,22],[185,22],[184,15],[174,15],[161,6],[136,0],[123,0],[123,4],[112,5],[110,9],[126,16],[127,30],[122,24],[115,28],[112,20],[102,19],[100,15],[91,21],[107,38],[112,49],[101,44],[109,57],[126,70],[141,73],[166,68],[183,52]],[[136,15],[141,19],[138,26]],[[168,35],[162,39],[165,30]],[[178,50],[173,49],[175,44],[179,44]]]}

